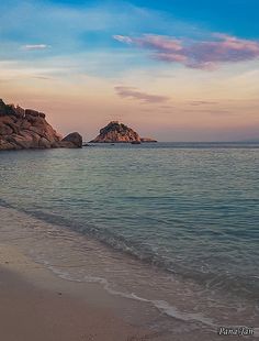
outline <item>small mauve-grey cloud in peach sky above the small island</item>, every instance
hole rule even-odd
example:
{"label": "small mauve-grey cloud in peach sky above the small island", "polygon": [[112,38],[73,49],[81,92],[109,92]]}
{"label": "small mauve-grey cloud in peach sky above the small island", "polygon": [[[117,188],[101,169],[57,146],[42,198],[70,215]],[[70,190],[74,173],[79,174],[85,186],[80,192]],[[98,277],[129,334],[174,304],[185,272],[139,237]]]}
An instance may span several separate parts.
{"label": "small mauve-grey cloud in peach sky above the small island", "polygon": [[142,92],[134,87],[117,86],[114,89],[122,98],[140,100],[145,103],[161,103],[169,100],[169,97]]}

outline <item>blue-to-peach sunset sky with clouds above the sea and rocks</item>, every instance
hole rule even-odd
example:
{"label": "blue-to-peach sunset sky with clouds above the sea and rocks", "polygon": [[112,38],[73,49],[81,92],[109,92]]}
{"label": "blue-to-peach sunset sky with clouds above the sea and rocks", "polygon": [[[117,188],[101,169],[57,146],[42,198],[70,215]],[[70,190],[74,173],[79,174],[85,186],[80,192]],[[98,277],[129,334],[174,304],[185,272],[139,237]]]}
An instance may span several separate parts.
{"label": "blue-to-peach sunset sky with clouds above the sea and rocks", "polygon": [[258,0],[4,0],[0,98],[94,138],[259,139]]}

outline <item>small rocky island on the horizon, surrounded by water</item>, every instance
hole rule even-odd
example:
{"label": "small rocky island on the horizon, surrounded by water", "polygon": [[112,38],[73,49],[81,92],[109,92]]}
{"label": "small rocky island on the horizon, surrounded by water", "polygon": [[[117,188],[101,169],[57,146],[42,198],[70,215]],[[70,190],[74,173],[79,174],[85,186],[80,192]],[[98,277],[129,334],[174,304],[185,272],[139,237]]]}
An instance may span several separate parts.
{"label": "small rocky island on the horizon, surrounded by water", "polygon": [[157,142],[149,138],[140,138],[133,129],[119,121],[112,121],[100,130],[100,134],[90,143],[133,143]]}

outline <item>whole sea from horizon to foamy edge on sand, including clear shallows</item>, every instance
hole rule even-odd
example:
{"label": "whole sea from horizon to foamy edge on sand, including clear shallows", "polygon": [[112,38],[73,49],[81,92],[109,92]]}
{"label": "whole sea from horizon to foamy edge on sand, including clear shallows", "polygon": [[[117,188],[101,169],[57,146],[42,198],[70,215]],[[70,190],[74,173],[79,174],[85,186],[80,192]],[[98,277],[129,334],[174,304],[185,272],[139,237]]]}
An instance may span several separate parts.
{"label": "whole sea from horizon to foamy edge on sand, including clear shallows", "polygon": [[1,152],[0,183],[0,243],[155,329],[258,332],[259,143]]}

